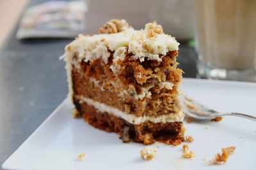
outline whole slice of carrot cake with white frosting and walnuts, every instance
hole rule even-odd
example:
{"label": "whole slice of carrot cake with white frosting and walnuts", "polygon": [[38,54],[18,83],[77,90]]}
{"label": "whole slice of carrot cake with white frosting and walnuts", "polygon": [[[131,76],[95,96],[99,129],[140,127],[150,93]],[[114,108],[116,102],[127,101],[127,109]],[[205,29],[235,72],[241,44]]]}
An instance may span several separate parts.
{"label": "whole slice of carrot cake with white frosting and walnuts", "polygon": [[181,143],[178,50],[156,22],[137,31],[125,20],[110,20],[99,34],[79,35],[63,55],[76,117],[124,142]]}

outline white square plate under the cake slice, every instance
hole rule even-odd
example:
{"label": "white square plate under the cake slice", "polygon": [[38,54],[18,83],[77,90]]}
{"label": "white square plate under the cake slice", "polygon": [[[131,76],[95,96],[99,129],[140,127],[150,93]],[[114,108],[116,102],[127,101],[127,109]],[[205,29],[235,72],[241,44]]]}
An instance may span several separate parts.
{"label": "white square plate under the cake slice", "polygon": [[[256,84],[229,81],[183,79],[182,89],[210,108],[256,116]],[[252,120],[224,117],[221,122],[184,121],[193,159],[182,159],[182,145],[155,143],[157,155],[150,161],[140,158],[145,147],[122,143],[115,133],[95,129],[74,119],[68,99],[36,129],[6,160],[3,169],[256,169],[256,124]],[[225,164],[209,166],[207,160],[227,146],[236,151]],[[77,155],[85,153],[83,161]]]}

